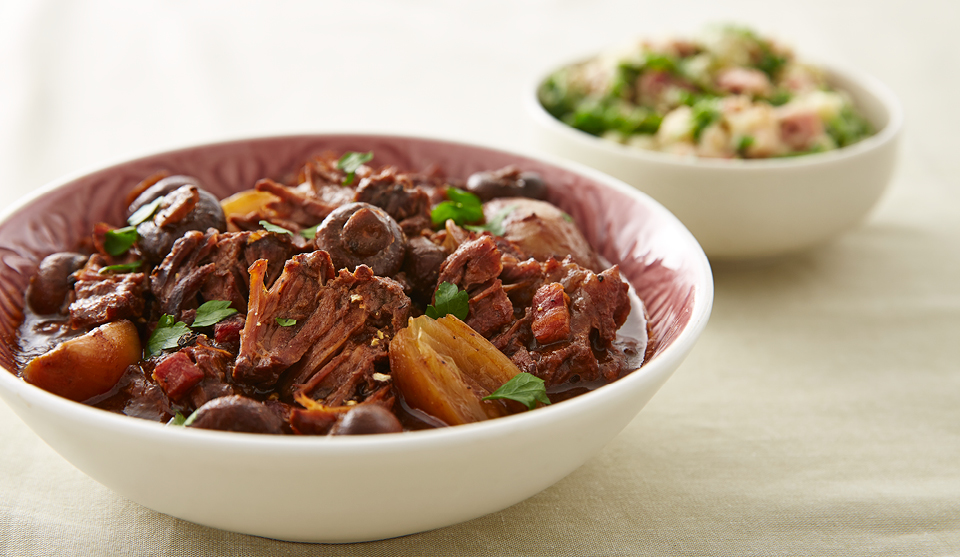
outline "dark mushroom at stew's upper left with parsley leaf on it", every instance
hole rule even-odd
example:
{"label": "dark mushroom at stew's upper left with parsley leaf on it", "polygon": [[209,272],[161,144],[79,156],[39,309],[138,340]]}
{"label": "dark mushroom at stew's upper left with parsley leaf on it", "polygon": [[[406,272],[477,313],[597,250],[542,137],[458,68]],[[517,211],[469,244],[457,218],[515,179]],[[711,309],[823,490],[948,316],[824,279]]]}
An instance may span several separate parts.
{"label": "dark mushroom at stew's upper left with parsley leaf on it", "polygon": [[150,186],[130,204],[128,215],[158,197],[162,200],[152,217],[137,225],[137,247],[151,261],[161,261],[173,243],[191,230],[227,229],[220,201],[190,176],[170,176]]}

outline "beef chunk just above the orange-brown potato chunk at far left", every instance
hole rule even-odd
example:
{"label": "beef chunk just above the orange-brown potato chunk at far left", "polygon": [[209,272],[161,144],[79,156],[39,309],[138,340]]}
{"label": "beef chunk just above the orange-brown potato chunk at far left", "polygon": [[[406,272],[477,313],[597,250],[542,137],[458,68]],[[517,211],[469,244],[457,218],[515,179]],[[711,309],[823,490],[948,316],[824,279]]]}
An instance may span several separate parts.
{"label": "beef chunk just above the orange-brown potato chunk at far left", "polygon": [[69,306],[70,324],[75,329],[102,325],[118,319],[136,319],[143,313],[143,273],[101,274],[104,263],[92,256],[86,267],[74,275],[76,299]]}

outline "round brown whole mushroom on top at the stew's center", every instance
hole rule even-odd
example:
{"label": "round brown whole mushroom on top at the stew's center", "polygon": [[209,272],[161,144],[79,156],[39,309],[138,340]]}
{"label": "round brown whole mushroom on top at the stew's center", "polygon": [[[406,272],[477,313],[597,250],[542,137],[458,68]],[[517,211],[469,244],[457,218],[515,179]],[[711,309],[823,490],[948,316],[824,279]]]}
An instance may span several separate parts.
{"label": "round brown whole mushroom on top at the stew's center", "polygon": [[369,203],[348,203],[323,220],[316,245],[330,254],[337,269],[353,272],[366,265],[374,274],[390,276],[403,263],[406,237],[383,209]]}

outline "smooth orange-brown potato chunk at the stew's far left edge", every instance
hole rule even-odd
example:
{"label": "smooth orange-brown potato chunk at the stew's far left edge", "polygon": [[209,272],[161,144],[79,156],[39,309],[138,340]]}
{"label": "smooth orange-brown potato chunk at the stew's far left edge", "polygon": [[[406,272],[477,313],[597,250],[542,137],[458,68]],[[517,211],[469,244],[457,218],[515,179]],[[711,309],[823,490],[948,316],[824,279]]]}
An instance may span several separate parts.
{"label": "smooth orange-brown potato chunk at the stew's far left edge", "polygon": [[23,379],[82,402],[113,388],[141,354],[136,326],[126,320],[114,321],[37,356],[23,369]]}

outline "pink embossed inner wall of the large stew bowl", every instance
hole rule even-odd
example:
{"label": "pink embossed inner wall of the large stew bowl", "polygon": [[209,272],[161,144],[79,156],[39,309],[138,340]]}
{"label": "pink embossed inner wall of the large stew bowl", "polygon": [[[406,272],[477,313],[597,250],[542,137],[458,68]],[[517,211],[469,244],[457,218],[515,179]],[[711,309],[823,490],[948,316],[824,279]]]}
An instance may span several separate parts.
{"label": "pink embossed inner wall of the large stew bowl", "polygon": [[[283,179],[309,157],[326,151],[370,151],[374,164],[420,171],[437,165],[449,178],[517,164],[539,172],[550,200],[570,213],[590,243],[647,305],[653,354],[675,340],[694,310],[698,285],[709,268],[689,233],[643,194],[584,169],[569,170],[533,158],[445,141],[375,136],[322,135],[251,139],[153,155],[56,183],[7,211],[0,222],[0,365],[17,368],[15,346],[23,293],[40,260],[76,249],[97,222],[119,225],[127,194],[158,171],[189,174],[218,197],[250,189],[264,177]],[[706,276],[705,276],[706,275]]]}

